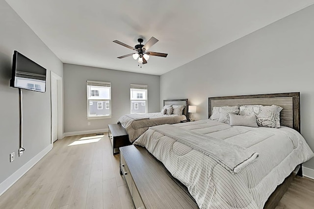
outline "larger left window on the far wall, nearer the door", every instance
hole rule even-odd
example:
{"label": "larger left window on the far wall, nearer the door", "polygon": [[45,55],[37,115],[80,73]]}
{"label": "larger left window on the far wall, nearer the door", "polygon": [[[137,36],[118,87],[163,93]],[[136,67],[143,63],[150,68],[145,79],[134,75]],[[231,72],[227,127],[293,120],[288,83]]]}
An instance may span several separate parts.
{"label": "larger left window on the far wall, nearer the door", "polygon": [[87,81],[87,119],[111,118],[110,101],[110,82]]}

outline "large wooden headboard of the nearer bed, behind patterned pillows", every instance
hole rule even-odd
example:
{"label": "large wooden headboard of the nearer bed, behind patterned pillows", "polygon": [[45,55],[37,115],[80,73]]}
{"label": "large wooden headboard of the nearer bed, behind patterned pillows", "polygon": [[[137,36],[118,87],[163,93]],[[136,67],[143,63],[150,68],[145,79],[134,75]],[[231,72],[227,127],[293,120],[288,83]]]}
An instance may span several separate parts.
{"label": "large wooden headboard of the nearer bed, behind patterned pillows", "polygon": [[280,124],[295,129],[299,133],[300,127],[300,93],[272,93],[244,96],[209,97],[209,117],[212,107],[234,105],[278,105],[284,108],[280,112]]}

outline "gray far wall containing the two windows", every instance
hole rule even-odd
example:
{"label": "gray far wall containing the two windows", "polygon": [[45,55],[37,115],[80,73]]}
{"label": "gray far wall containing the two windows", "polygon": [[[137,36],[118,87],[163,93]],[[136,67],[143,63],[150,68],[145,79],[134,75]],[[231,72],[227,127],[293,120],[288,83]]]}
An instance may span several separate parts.
{"label": "gray far wall containing the two windows", "polygon": [[[130,114],[130,84],[148,85],[148,112],[159,112],[159,76],[64,64],[64,132],[106,129]],[[143,69],[145,70],[145,68]],[[110,119],[87,120],[86,81],[111,82]],[[90,126],[87,125],[90,122]]]}

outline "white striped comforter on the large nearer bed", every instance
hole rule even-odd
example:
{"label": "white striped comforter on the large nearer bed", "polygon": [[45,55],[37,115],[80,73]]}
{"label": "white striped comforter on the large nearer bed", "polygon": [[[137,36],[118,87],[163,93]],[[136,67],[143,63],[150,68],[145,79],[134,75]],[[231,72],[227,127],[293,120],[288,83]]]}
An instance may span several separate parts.
{"label": "white striped comforter on the large nearer bed", "polygon": [[[205,123],[204,123],[205,121]],[[260,156],[239,173],[175,139],[148,130],[134,141],[145,146],[185,186],[201,209],[262,209],[294,168],[314,156],[305,139],[288,127],[231,127],[214,120],[175,124],[246,147]]]}

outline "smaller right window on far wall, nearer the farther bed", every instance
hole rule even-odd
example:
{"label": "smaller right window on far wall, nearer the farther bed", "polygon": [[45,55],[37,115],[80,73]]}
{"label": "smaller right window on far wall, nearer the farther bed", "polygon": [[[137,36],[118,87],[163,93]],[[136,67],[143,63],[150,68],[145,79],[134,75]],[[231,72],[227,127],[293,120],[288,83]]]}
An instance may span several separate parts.
{"label": "smaller right window on far wall, nearer the farther bed", "polygon": [[131,114],[147,113],[147,85],[131,84]]}

